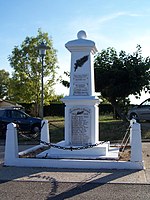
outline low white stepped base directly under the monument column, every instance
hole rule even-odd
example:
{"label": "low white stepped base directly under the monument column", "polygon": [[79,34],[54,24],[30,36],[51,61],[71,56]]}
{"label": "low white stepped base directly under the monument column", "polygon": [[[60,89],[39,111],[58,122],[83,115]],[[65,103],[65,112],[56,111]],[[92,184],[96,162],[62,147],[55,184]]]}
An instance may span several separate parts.
{"label": "low white stepped base directly under the monument column", "polygon": [[[51,147],[50,149],[37,155],[37,158],[68,158],[68,159],[119,159],[119,148],[110,147],[110,142],[104,142],[90,148],[82,149],[81,146],[65,146],[65,141],[61,141],[56,146],[64,149]],[[74,147],[76,150],[74,150]]]}

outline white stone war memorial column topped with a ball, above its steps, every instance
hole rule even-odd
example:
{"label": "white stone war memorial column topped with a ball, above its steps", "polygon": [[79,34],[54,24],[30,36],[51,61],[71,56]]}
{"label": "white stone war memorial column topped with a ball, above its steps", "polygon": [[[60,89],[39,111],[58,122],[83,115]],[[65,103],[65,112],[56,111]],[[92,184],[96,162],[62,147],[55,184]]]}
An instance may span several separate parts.
{"label": "white stone war memorial column topped with a ball, above its steps", "polygon": [[77,39],[66,43],[71,52],[70,93],[65,103],[65,145],[82,146],[99,141],[99,98],[95,96],[95,43],[79,31]]}

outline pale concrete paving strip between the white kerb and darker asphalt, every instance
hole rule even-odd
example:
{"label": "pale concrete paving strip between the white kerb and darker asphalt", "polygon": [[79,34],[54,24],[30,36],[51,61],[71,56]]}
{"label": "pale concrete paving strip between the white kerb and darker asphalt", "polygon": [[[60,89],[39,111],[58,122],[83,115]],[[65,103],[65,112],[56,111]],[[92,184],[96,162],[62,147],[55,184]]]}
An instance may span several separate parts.
{"label": "pale concrete paving strip between the white kerb and darker asphalt", "polygon": [[[149,176],[149,175],[147,175]],[[46,168],[3,167],[0,170],[1,180],[46,181],[57,182],[95,182],[95,183],[141,183],[146,184],[148,178],[144,170],[47,170]]]}

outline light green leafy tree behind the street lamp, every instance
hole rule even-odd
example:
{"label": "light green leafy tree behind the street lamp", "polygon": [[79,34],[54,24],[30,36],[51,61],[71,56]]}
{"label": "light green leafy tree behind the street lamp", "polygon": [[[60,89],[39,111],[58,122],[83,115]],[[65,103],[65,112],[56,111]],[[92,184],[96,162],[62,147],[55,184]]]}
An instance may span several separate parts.
{"label": "light green leafy tree behind the street lamp", "polygon": [[36,37],[26,37],[20,46],[15,46],[8,57],[13,68],[9,90],[10,100],[18,103],[33,103],[38,106],[41,101],[41,61],[39,59],[38,45],[44,42],[50,47],[46,51],[43,67],[44,74],[44,103],[48,102],[54,94],[53,86],[58,66],[56,50],[48,33],[38,30]]}

